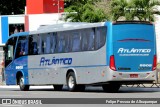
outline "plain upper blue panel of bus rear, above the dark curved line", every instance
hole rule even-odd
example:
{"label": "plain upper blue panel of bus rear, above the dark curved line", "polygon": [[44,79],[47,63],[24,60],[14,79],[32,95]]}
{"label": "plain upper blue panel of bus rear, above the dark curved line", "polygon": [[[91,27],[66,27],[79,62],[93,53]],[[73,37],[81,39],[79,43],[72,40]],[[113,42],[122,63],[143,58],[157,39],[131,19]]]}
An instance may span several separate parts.
{"label": "plain upper blue panel of bus rear, above the dark curved line", "polygon": [[114,42],[154,41],[154,26],[149,24],[117,24],[113,26]]}

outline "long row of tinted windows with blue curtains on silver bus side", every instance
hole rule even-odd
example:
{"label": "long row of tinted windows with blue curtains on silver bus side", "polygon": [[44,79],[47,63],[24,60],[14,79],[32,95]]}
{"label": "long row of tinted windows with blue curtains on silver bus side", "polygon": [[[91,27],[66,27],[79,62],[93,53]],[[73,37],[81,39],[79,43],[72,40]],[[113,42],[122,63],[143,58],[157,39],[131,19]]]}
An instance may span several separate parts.
{"label": "long row of tinted windows with blue curtains on silver bus side", "polygon": [[104,46],[106,33],[106,27],[97,27],[30,36],[30,53],[36,55],[97,50]]}

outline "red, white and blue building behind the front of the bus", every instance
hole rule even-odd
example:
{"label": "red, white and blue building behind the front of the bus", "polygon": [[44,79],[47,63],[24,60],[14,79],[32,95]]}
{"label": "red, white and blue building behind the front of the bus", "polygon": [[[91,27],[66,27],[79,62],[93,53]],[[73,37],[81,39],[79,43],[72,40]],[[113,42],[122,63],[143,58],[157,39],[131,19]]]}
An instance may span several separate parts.
{"label": "red, white and blue building behind the front of the bus", "polygon": [[11,34],[33,31],[42,25],[64,23],[64,0],[26,0],[24,8],[23,15],[0,16],[0,63],[4,57],[3,47]]}

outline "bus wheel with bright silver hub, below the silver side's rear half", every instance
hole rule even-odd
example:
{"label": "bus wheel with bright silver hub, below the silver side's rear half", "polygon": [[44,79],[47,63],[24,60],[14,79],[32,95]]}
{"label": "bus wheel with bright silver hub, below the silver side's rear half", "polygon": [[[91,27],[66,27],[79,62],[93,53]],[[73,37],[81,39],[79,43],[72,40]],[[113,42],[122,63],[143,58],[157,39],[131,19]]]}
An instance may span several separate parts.
{"label": "bus wheel with bright silver hub, below the silver side's rear half", "polygon": [[71,92],[78,90],[78,85],[76,84],[76,77],[74,72],[70,72],[67,75],[67,86],[68,86],[68,90]]}

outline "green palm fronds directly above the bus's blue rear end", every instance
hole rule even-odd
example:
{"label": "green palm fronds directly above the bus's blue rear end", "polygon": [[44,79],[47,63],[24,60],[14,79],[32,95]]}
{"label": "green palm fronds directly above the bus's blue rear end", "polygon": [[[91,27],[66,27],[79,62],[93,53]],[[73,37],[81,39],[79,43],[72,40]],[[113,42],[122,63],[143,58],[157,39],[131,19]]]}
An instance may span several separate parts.
{"label": "green palm fronds directly above the bus's blue rear end", "polygon": [[158,0],[113,0],[112,20],[154,21],[154,15],[160,14],[158,5]]}

